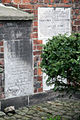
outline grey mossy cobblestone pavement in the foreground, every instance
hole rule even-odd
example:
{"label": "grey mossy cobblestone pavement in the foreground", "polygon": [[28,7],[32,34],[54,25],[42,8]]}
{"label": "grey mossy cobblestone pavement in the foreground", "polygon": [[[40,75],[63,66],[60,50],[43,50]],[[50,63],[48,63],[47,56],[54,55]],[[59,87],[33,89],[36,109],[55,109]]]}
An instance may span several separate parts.
{"label": "grey mossy cobblestone pavement in the foreground", "polygon": [[49,117],[61,116],[61,120],[80,120],[80,101],[63,99],[46,101],[37,105],[22,107],[15,114],[0,114],[0,120],[48,120]]}

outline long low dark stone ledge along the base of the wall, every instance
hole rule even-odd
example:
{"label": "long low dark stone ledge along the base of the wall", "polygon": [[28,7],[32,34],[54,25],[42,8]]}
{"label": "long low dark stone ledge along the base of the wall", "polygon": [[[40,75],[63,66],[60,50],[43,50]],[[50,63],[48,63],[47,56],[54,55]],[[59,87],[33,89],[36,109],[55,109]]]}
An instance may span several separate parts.
{"label": "long low dark stone ledge along the base of the wall", "polygon": [[[66,92],[53,92],[53,90],[50,90],[43,93],[29,95],[29,96],[21,96],[21,97],[15,97],[11,99],[4,99],[4,100],[0,100],[0,109],[1,111],[3,111],[4,108],[9,106],[14,106],[16,109],[18,109],[20,107],[40,104],[45,101],[53,101],[60,98],[69,99],[69,94],[66,94]],[[80,100],[80,93],[73,94],[72,99]]]}

